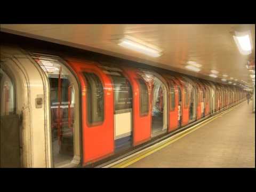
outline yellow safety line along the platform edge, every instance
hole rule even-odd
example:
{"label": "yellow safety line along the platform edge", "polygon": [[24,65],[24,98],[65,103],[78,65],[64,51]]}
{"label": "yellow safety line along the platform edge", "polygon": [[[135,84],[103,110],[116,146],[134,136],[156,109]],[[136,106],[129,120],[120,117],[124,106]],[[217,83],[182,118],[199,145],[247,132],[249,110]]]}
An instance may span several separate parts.
{"label": "yellow safety line along the platform edge", "polygon": [[[243,102],[241,102],[239,105],[241,105],[242,103]],[[161,146],[158,146],[158,147],[156,146],[153,149],[148,149],[148,150],[146,150],[144,152],[141,152],[141,153],[139,153],[139,154],[137,154],[137,155],[135,155],[135,156],[133,156],[131,158],[126,159],[125,161],[122,161],[121,163],[117,163],[116,165],[113,165],[113,166],[110,166],[110,167],[112,167],[112,168],[124,168],[124,167],[127,167],[127,166],[129,166],[129,165],[139,161],[140,159],[145,158],[145,157],[149,156],[150,154],[153,154],[156,151],[158,151],[158,150],[160,150],[160,149],[162,149],[162,148],[164,148],[166,146],[169,146],[171,143],[173,143],[173,142],[175,142],[175,141],[185,137],[187,134],[192,133],[192,132],[196,131],[197,129],[199,129],[200,127],[202,127],[202,126],[212,122],[214,119],[216,119],[218,117],[222,117],[223,114],[228,113],[229,111],[235,109],[239,105],[234,106],[231,109],[228,109],[226,111],[223,111],[223,112],[221,112],[219,115],[217,115],[215,117],[211,117],[209,119],[205,119],[205,121],[203,121],[201,123],[198,123],[198,124],[196,124],[196,125],[194,125],[192,127],[189,127],[187,130],[184,130],[184,131],[182,131],[180,133],[177,133],[176,135],[173,135],[171,138],[167,138],[166,139],[167,141],[165,141]]]}

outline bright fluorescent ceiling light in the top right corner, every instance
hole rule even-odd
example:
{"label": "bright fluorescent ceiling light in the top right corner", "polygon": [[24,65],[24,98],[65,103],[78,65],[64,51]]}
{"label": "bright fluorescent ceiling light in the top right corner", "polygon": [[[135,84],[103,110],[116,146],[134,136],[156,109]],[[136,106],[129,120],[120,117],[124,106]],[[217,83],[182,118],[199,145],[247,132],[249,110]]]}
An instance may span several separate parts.
{"label": "bright fluorescent ceiling light in the top right corner", "polygon": [[252,53],[250,31],[247,33],[239,33],[235,31],[235,36],[233,37],[240,53],[245,55]]}

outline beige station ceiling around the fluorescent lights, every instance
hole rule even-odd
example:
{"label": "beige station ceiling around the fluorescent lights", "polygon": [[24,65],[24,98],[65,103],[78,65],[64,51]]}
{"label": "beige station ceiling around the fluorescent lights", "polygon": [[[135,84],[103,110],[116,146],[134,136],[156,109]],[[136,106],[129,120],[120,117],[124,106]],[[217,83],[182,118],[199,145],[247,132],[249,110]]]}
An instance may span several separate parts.
{"label": "beige station ceiling around the fluorescent lights", "polygon": [[[233,33],[247,30],[251,32],[253,49],[251,54],[243,55]],[[222,75],[228,75],[226,78],[232,83],[252,85],[250,75],[253,71],[249,71],[246,65],[255,60],[255,25],[3,24],[1,31],[138,61],[215,82],[221,82]],[[163,54],[154,58],[126,49],[118,45],[123,38],[138,39],[162,50]],[[191,61],[202,65],[199,72],[185,68]],[[219,71],[217,78],[209,77],[211,70]]]}

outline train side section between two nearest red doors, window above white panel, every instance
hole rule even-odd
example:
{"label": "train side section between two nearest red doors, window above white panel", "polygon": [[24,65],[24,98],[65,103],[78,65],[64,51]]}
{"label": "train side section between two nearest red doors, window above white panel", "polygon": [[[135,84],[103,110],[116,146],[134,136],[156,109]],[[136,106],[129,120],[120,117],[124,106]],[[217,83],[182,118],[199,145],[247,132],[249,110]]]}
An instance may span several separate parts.
{"label": "train side section between two nearest red doors, window above white panel", "polygon": [[115,97],[115,151],[132,146],[132,87],[128,79],[111,75]]}

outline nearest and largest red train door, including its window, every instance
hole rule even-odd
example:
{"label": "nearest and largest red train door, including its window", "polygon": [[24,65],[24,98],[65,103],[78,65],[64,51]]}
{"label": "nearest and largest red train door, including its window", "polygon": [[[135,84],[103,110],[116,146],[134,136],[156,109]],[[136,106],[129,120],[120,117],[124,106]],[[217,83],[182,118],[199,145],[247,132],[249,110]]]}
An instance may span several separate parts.
{"label": "nearest and largest red train door, including its window", "polygon": [[114,153],[113,87],[97,63],[68,63],[81,83],[83,165],[86,165]]}

